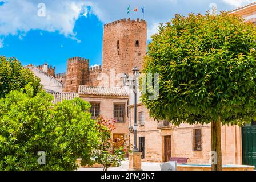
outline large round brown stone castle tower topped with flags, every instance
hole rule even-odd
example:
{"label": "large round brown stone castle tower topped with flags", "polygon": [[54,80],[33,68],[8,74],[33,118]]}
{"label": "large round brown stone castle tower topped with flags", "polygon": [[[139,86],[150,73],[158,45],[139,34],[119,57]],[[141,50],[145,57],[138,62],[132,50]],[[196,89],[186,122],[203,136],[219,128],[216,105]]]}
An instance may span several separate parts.
{"label": "large round brown stone castle tower topped with flags", "polygon": [[129,18],[105,24],[102,73],[103,77],[109,77],[108,85],[121,86],[123,73],[132,73],[135,66],[141,70],[146,49],[147,23],[145,20]]}

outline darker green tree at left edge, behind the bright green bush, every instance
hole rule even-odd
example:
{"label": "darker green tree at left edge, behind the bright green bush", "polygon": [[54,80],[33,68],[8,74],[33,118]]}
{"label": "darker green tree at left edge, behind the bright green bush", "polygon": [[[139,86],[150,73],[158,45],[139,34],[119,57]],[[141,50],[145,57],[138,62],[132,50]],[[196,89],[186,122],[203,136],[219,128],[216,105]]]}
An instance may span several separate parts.
{"label": "darker green tree at left edge, behind the bright green bush", "polygon": [[34,88],[34,96],[42,90],[39,78],[29,69],[23,68],[17,59],[0,56],[0,98],[11,90],[25,88],[29,82]]}

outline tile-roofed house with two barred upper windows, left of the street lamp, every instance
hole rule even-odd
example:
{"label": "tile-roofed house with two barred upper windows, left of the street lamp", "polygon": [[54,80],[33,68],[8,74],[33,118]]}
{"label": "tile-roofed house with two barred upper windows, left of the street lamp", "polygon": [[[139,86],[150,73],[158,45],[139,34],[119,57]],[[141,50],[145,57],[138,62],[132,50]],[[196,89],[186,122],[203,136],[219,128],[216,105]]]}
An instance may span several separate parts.
{"label": "tile-roofed house with two barred upper windows, left of the street lamp", "polygon": [[91,104],[91,117],[97,119],[114,118],[116,129],[113,131],[113,149],[118,147],[118,139],[129,138],[128,94],[124,88],[103,86],[79,86],[79,97]]}

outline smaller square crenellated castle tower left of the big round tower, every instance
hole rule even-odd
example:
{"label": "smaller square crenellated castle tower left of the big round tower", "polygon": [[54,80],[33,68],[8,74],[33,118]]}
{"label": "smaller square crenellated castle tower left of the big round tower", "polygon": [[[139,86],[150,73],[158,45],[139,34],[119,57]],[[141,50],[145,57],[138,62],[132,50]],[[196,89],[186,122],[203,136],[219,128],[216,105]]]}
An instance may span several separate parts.
{"label": "smaller square crenellated castle tower left of the big round tower", "polygon": [[89,83],[89,60],[73,57],[67,60],[66,86],[64,92],[78,92],[79,85]]}

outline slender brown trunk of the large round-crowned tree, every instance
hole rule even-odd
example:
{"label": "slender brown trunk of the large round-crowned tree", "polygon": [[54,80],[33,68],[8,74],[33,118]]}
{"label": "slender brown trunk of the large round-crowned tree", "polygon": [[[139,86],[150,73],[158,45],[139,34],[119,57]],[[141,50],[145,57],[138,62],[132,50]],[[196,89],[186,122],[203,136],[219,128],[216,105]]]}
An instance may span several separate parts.
{"label": "slender brown trunk of the large round-crowned tree", "polygon": [[221,119],[211,122],[211,171],[222,171]]}

